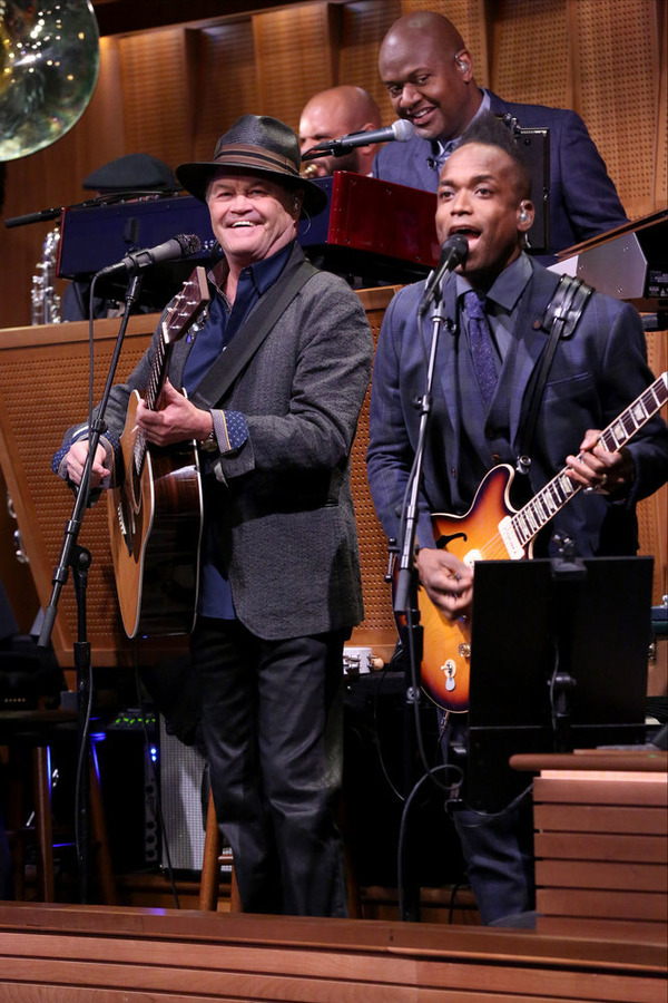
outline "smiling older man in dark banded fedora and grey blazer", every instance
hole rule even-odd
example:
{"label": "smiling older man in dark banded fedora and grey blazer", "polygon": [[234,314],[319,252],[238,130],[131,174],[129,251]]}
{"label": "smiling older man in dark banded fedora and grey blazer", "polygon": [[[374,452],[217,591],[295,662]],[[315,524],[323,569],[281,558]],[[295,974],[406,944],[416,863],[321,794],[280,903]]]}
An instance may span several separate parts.
{"label": "smiling older man in dark banded fedora and grey blazer", "polygon": [[[296,241],[325,197],[299,177],[292,129],[244,115],[212,160],[176,174],[207,203],[223,255],[206,321],[174,345],[161,408],[139,403],[137,423],[159,447],[200,444],[190,651],[216,812],[246,912],[344,916],[342,653],[363,615],[350,450],[371,331],[356,294]],[[111,392],[94,486],[154,351]],[[58,465],[75,484],[86,437],[70,431]]]}

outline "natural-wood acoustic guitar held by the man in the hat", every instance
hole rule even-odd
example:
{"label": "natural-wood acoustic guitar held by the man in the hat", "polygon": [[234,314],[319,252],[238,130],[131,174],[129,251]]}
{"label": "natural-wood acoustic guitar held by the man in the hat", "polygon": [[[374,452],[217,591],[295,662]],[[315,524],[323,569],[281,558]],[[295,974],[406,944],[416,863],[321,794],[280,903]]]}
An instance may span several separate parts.
{"label": "natural-wood acoustic guitar held by the man in the hat", "polygon": [[[156,410],[171,345],[209,299],[195,269],[161,323],[144,401]],[[195,442],[149,446],[137,429],[140,395],[128,403],[120,438],[122,484],[108,491],[109,536],[122,625],[128,637],[188,633],[195,621],[202,538],[202,483]]]}

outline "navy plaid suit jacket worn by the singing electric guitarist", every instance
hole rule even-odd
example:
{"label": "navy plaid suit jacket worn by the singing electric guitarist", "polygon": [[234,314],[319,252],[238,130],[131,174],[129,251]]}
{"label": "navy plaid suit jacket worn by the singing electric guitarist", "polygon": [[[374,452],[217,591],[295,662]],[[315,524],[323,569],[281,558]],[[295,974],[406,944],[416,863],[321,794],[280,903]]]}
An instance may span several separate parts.
{"label": "navy plaid suit jacket worn by the singing electric guitarist", "polygon": [[[527,389],[547,341],[540,321],[558,280],[558,275],[532,262],[513,348],[503,364],[488,420],[495,436],[488,469],[498,462],[493,451],[501,454],[502,461],[513,461],[520,451]],[[415,400],[424,393],[431,341],[429,317],[422,332],[418,328],[416,310],[423,289],[423,283],[404,286],[391,301],[372,380],[369,480],[383,528],[395,538],[400,536],[399,512],[418,444],[420,412]],[[444,285],[443,300],[445,315],[456,325],[452,276]],[[466,400],[458,378],[459,343],[456,330],[442,331],[420,498],[418,539],[422,546],[433,546],[429,514],[463,515],[478,487],[470,456],[462,450],[461,417],[472,402]],[[606,428],[652,380],[638,312],[628,303],[593,293],[574,334],[557,348],[531,449],[529,495],[563,468],[566,457],[578,451],[588,428]],[[668,429],[662,419],[649,421],[628,448],[636,467],[628,499],[612,503],[602,495],[580,491],[554,518],[554,528],[573,538],[582,556],[633,553],[635,501],[668,479]]]}

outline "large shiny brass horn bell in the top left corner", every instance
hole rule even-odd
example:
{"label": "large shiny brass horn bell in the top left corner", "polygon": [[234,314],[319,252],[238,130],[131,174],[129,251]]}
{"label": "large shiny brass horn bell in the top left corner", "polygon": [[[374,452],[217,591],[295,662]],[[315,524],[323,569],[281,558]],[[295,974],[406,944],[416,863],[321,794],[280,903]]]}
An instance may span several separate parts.
{"label": "large shiny brass horn bell in the top left corner", "polygon": [[0,162],[67,133],[92,97],[98,71],[90,0],[0,0]]}

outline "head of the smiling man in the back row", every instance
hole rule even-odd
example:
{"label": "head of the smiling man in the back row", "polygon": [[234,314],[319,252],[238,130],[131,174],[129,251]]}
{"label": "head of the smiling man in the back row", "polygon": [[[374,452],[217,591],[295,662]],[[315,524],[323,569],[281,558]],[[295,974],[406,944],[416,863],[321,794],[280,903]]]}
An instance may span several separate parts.
{"label": "head of the smiling man in the back row", "polygon": [[482,101],[463,38],[452,21],[431,10],[392,25],[379,70],[395,113],[412,121],[422,139],[458,138]]}

